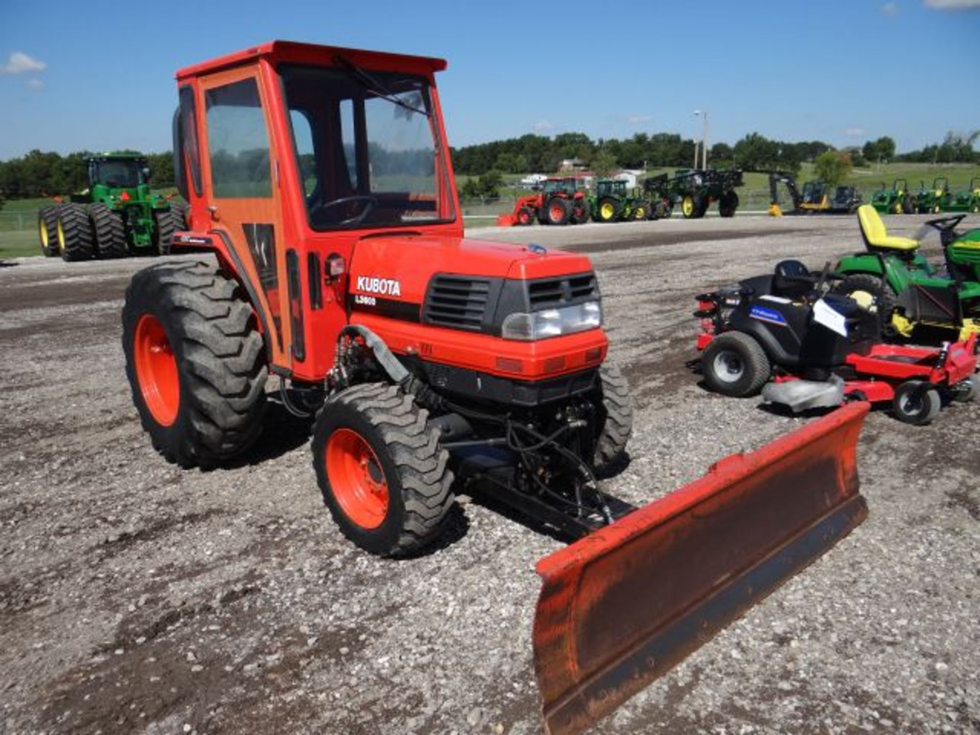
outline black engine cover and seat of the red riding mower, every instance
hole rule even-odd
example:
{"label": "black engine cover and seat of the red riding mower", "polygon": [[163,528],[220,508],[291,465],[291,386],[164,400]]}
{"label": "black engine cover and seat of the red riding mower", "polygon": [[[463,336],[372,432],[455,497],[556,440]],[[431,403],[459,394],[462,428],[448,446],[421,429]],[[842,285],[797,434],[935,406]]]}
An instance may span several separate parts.
{"label": "black engine cover and seat of the red riding mower", "polygon": [[877,316],[854,300],[825,294],[810,303],[775,296],[760,290],[763,279],[771,282],[771,278],[742,281],[740,303],[727,321],[729,329],[755,337],[774,365],[798,370],[839,368],[849,354],[866,355],[878,341]]}

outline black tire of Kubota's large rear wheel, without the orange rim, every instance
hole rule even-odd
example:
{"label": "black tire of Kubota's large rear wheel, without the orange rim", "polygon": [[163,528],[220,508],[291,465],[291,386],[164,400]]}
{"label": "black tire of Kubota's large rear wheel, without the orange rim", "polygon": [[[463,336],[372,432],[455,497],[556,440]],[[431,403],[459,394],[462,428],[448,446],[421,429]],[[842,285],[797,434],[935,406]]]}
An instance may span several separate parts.
{"label": "black tire of Kubota's large rear wheel, without the orange rim", "polygon": [[[189,412],[176,441],[158,434],[156,422],[137,399],[139,387],[126,347],[135,321],[154,300],[158,318],[170,325],[178,344],[181,411]],[[262,335],[241,287],[205,263],[160,264],[138,271],[123,307],[126,374],[140,407],[143,428],[154,447],[180,466],[216,466],[248,449],[262,431],[269,368]]]}

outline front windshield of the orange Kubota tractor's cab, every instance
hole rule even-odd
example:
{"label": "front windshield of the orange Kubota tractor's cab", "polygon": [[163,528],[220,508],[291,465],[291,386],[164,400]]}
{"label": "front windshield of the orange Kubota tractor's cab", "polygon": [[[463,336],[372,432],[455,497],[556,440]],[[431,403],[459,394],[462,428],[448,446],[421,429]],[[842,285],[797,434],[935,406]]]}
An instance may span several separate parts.
{"label": "front windshield of the orange Kubota tractor's cab", "polygon": [[314,229],[455,220],[425,78],[353,66],[279,72]]}

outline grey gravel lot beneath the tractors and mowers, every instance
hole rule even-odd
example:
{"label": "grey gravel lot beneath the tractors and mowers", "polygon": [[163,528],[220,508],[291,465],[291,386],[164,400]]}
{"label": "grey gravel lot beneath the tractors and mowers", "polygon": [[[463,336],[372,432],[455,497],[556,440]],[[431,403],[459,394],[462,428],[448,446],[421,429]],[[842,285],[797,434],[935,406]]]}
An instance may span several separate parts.
{"label": "grey gravel lot beneath the tractors and mowers", "polygon": [[[860,248],[852,218],[471,235],[593,254],[638,409],[607,488],[633,503],[803,420],[699,386],[693,295]],[[310,427],[276,406],[236,466],[170,466],[123,373],[123,289],[148,263],[4,265],[0,731],[540,731],[533,566],[560,542],[462,498],[433,553],[371,558],[322,507]],[[873,413],[868,520],[595,732],[980,732],[978,419]]]}

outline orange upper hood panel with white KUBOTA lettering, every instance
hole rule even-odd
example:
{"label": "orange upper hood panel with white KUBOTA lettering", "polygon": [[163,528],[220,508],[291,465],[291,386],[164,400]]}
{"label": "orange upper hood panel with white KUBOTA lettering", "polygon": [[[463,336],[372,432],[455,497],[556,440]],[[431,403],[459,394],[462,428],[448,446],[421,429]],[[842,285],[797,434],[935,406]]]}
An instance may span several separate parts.
{"label": "orange upper hood panel with white KUBOTA lettering", "polygon": [[459,236],[391,234],[362,238],[354,247],[350,291],[420,304],[433,275],[529,280],[592,271],[585,256],[540,245]]}

